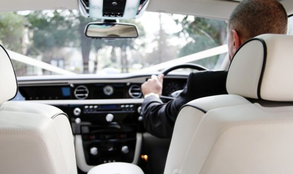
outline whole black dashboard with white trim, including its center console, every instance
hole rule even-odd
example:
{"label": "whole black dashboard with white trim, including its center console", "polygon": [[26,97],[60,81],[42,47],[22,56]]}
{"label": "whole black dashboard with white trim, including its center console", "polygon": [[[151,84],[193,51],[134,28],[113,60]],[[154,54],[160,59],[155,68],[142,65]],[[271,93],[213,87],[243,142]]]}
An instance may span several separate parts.
{"label": "whole black dashboard with white trim, including its center console", "polygon": [[[140,86],[151,75],[19,77],[13,100],[50,104],[67,113],[83,172],[109,162],[137,164],[140,158],[143,96]],[[187,75],[164,78],[163,95],[186,85]]]}

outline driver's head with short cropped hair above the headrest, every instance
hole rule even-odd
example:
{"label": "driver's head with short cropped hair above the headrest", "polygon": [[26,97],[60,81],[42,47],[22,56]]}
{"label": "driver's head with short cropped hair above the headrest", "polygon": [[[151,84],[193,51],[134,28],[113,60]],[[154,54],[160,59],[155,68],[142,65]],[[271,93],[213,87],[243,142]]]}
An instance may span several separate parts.
{"label": "driver's head with short cropped hair above the headrest", "polygon": [[243,0],[228,20],[230,60],[246,40],[261,34],[287,34],[287,13],[277,0]]}

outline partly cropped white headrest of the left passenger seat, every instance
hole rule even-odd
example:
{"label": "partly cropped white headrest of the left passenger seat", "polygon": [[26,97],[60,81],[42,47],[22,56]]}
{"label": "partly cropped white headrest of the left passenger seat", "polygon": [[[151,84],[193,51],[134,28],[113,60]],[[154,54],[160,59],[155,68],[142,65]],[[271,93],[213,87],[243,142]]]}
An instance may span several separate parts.
{"label": "partly cropped white headrest of the left passenger seat", "polygon": [[17,81],[6,50],[0,45],[0,104],[12,99],[17,93]]}

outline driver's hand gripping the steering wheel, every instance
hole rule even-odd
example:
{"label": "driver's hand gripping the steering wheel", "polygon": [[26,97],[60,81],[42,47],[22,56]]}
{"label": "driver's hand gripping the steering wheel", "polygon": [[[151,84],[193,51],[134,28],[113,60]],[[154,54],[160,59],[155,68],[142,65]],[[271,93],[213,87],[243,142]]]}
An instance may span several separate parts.
{"label": "driver's hand gripping the steering wheel", "polygon": [[151,93],[158,94],[159,96],[162,95],[163,78],[163,74],[160,74],[158,76],[152,75],[152,77],[148,79],[148,81],[144,82],[141,85],[141,92],[143,96]]}

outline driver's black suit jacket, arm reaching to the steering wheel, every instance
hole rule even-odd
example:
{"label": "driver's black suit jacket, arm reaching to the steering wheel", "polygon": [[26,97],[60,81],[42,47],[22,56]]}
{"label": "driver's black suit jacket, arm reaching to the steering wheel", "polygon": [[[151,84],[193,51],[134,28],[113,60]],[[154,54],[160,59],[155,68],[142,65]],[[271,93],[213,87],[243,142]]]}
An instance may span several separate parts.
{"label": "driver's black suit jacket, arm reaching to the steering wheel", "polygon": [[156,96],[149,96],[142,103],[141,114],[145,129],[154,136],[171,138],[180,107],[197,98],[227,94],[227,71],[193,72],[178,98],[163,103]]}

